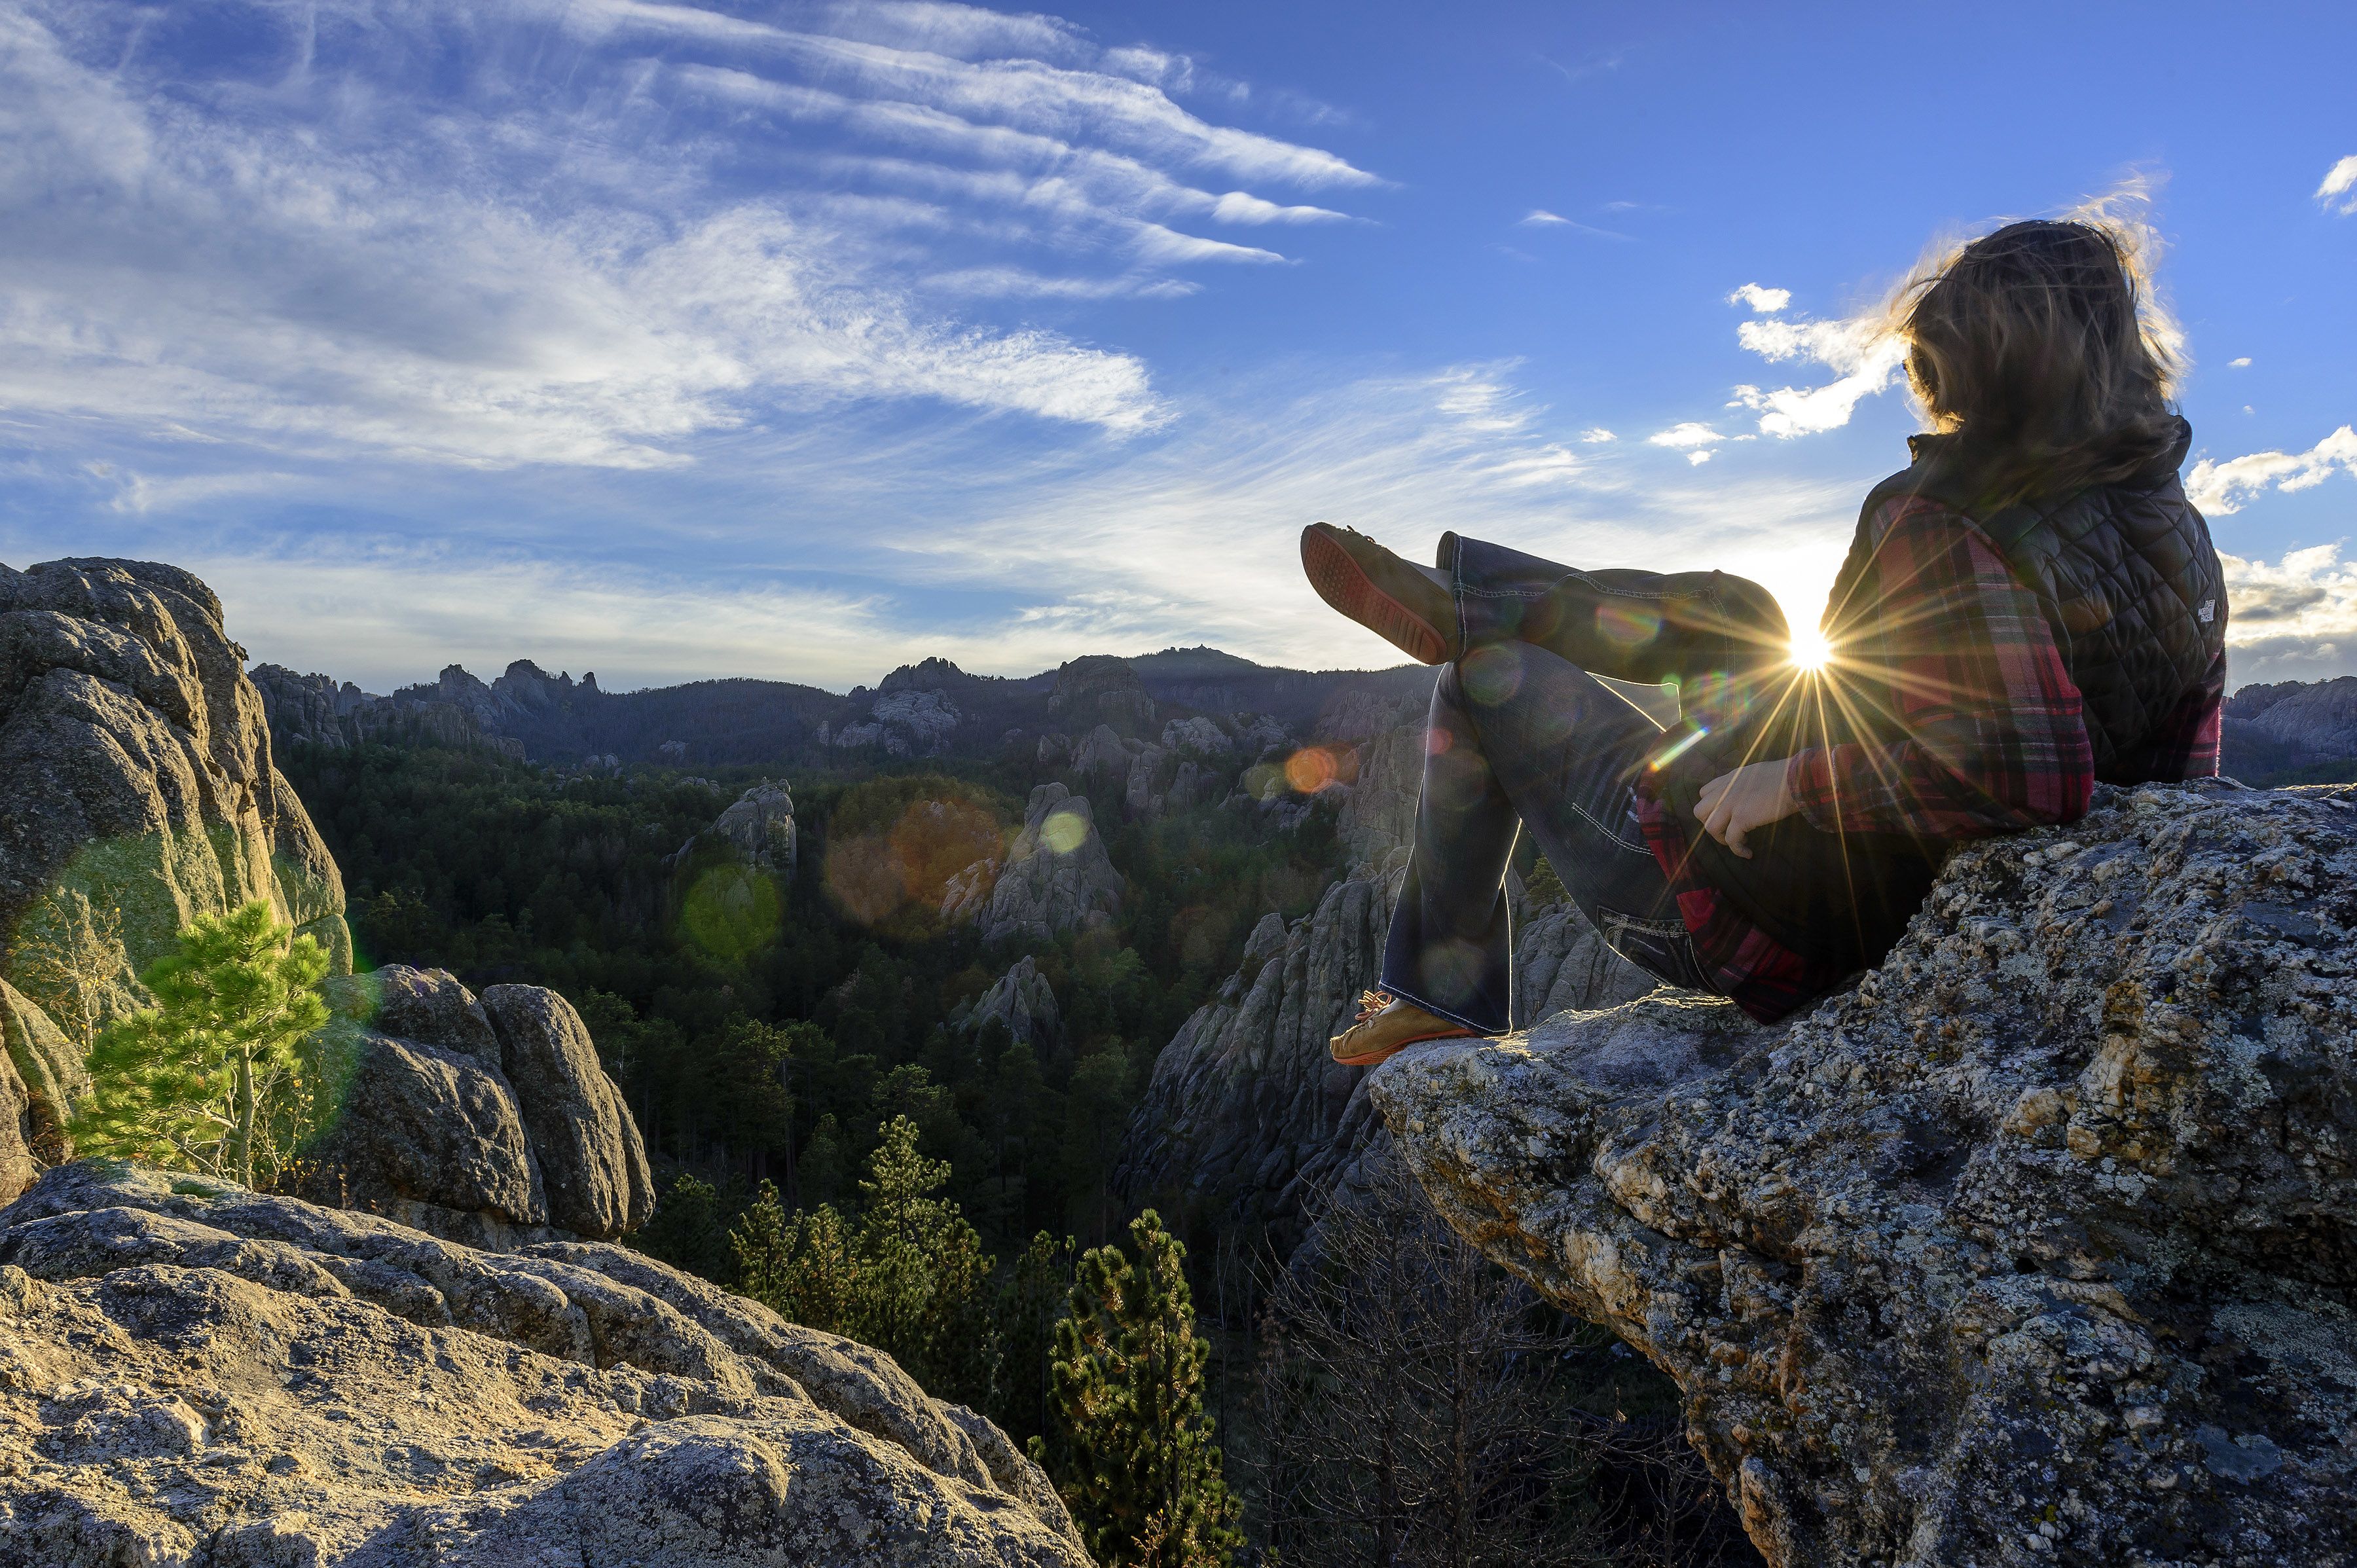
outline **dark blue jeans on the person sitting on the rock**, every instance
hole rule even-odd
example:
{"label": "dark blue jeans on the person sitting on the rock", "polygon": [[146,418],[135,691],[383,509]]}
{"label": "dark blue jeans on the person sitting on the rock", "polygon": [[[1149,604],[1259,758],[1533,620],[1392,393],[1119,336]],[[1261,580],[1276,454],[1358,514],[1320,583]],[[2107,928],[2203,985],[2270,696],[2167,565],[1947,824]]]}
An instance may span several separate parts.
{"label": "dark blue jeans on the person sitting on the rock", "polygon": [[1685,719],[1706,722],[1784,660],[1775,599],[1723,573],[1582,573],[1454,535],[1442,559],[1464,653],[1433,686],[1381,988],[1485,1035],[1513,1026],[1504,877],[1527,825],[1615,953],[1709,990],[1636,821],[1636,780],[1669,738],[1589,672],[1673,679]]}

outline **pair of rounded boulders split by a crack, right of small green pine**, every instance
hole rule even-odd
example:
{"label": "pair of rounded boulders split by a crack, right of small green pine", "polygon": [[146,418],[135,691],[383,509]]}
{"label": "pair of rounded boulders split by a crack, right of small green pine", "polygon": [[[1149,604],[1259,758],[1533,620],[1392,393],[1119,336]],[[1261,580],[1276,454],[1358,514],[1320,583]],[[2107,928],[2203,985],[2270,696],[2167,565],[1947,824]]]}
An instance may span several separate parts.
{"label": "pair of rounded boulders split by a crack, right of small green pine", "polygon": [[387,964],[330,988],[351,1085],[302,1193],[471,1245],[608,1238],[655,1207],[639,1127],[580,1014]]}

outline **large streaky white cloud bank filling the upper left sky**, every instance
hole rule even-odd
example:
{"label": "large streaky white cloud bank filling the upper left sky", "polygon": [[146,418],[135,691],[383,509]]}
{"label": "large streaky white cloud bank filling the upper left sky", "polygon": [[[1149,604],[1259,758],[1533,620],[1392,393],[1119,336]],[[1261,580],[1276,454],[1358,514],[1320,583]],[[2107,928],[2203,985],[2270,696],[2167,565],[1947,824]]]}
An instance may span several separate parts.
{"label": "large streaky white cloud bank filling the upper left sky", "polygon": [[[14,417],[464,467],[676,467],[858,401],[1129,436],[1169,417],[1143,361],[964,311],[1183,295],[1202,264],[1280,259],[1197,226],[1343,217],[1188,170],[1376,184],[1181,108],[1047,17],[255,17],[214,52],[139,7],[0,0]],[[427,92],[453,52],[457,94]],[[1186,75],[1176,57],[1157,73]],[[754,111],[832,137],[752,137]]]}

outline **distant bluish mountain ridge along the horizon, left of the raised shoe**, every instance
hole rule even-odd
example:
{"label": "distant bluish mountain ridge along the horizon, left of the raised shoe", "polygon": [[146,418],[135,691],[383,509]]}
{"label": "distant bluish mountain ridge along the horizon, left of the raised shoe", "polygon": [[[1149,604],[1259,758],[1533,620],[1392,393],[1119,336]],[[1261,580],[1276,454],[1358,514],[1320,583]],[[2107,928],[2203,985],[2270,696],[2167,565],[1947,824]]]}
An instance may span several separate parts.
{"label": "distant bluish mountain ridge along the horizon, left of the raised shoe", "polygon": [[[1219,648],[1082,655],[1030,677],[971,674],[945,658],[900,665],[877,686],[832,693],[764,679],[606,691],[519,658],[493,681],[448,665],[377,696],[285,665],[250,672],[280,745],[361,740],[478,745],[559,764],[728,766],[882,755],[981,752],[1018,733],[1146,733],[1186,712],[1268,714],[1299,736],[1365,733],[1431,681],[1431,670],[1285,670]],[[1176,712],[1171,712],[1176,710]]]}

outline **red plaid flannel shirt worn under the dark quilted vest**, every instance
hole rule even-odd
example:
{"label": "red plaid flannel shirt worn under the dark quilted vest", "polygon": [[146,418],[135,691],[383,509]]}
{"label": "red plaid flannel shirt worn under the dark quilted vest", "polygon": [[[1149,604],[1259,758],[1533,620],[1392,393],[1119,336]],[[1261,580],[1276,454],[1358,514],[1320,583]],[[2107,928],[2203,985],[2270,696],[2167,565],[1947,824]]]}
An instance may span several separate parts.
{"label": "red plaid flannel shirt worn under the dark quilted vest", "polygon": [[[1879,594],[1838,639],[1824,679],[1841,705],[1900,738],[1796,752],[1784,780],[1810,825],[1973,839],[2086,813],[2095,759],[2079,686],[2062,667],[2036,594],[1963,516],[1897,498],[1874,519]],[[2218,771],[2225,658],[2185,696],[2154,743],[2154,778]],[[1815,1000],[1843,976],[1808,960],[1704,882],[1688,825],[1640,797],[1638,816],[1678,917],[1721,993],[1761,1021]]]}

